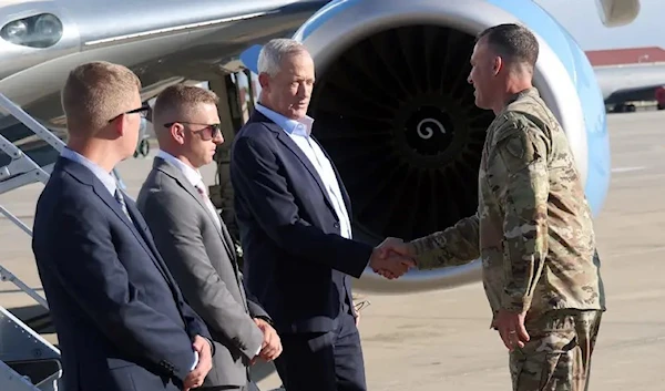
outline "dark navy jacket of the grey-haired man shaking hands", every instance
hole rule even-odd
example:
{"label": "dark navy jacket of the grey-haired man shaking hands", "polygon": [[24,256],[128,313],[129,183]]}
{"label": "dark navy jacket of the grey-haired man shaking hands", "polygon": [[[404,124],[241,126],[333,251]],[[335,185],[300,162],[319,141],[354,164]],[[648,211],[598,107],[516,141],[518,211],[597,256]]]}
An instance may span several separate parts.
{"label": "dark navy jacket of the grey-haired man shaking hands", "polygon": [[231,179],[248,290],[280,332],[334,330],[342,303],[352,302],[349,276],[360,277],[372,247],[340,236],[316,168],[258,111],[235,136]]}

